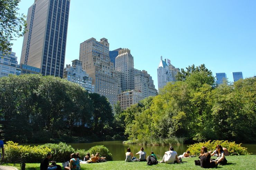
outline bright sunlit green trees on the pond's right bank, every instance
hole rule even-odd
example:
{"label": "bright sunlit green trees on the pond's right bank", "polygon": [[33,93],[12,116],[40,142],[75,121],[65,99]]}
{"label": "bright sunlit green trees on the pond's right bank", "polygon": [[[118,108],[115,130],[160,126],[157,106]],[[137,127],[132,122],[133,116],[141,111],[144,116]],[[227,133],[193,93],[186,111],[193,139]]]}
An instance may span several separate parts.
{"label": "bright sunlit green trees on the pond's right bank", "polygon": [[183,70],[179,80],[124,110],[129,140],[152,145],[175,137],[188,143],[256,141],[255,77],[216,87],[212,72],[202,64]]}

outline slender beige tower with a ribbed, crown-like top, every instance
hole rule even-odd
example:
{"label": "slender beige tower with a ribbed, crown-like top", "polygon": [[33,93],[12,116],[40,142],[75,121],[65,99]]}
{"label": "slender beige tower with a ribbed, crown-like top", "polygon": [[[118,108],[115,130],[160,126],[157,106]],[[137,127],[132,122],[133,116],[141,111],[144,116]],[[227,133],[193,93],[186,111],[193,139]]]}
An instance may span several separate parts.
{"label": "slender beige tower with a ribbed, crown-like top", "polygon": [[129,49],[121,49],[116,57],[116,70],[121,72],[121,88],[122,91],[134,89],[134,76],[132,69],[134,68],[133,56]]}

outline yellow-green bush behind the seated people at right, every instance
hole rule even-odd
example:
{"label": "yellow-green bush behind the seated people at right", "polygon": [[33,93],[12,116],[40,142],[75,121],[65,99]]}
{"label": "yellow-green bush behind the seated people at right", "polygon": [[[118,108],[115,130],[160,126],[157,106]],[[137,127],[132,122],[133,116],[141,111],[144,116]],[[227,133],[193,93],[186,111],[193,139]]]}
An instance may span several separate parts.
{"label": "yellow-green bush behind the seated people at right", "polygon": [[200,155],[201,147],[207,147],[208,151],[214,151],[217,145],[221,145],[223,148],[227,148],[229,155],[249,155],[247,148],[241,147],[241,144],[236,144],[235,142],[229,142],[224,140],[209,140],[207,142],[199,142],[193,145],[189,145],[188,150],[191,155]]}

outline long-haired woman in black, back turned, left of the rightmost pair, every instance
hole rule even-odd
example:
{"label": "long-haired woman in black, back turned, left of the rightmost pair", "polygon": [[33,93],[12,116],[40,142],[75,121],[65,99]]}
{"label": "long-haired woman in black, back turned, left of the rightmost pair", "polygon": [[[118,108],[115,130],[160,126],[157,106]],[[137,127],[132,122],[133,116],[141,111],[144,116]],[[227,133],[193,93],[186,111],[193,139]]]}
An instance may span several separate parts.
{"label": "long-haired woman in black, back turned, left of the rightmost pair", "polygon": [[202,168],[214,168],[217,166],[217,161],[211,161],[211,155],[207,151],[207,147],[202,147],[200,150],[200,155],[198,157],[201,160],[201,167]]}

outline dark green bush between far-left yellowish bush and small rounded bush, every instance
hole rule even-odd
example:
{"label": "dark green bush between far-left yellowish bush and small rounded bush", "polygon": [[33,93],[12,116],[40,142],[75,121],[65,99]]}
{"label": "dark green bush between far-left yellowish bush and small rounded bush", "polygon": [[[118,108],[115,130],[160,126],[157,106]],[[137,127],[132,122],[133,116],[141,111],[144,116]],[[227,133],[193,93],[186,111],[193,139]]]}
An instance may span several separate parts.
{"label": "dark green bush between far-left yellowish bush and small rounded bush", "polygon": [[56,162],[65,162],[70,160],[71,153],[75,152],[75,149],[71,145],[60,142],[58,144],[44,144],[41,147],[48,147],[52,149],[53,160]]}

